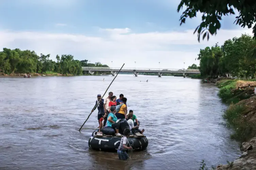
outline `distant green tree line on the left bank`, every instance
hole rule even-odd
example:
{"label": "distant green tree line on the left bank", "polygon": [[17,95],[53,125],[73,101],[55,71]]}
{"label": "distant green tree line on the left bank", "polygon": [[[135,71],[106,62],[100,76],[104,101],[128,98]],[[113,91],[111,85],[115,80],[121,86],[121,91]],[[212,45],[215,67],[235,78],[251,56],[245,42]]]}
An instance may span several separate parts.
{"label": "distant green tree line on the left bank", "polygon": [[0,72],[11,73],[44,73],[46,71],[61,74],[81,75],[82,67],[108,67],[97,62],[88,63],[88,60],[74,60],[73,55],[57,55],[57,62],[50,60],[50,54],[38,56],[35,51],[7,49],[0,52]]}

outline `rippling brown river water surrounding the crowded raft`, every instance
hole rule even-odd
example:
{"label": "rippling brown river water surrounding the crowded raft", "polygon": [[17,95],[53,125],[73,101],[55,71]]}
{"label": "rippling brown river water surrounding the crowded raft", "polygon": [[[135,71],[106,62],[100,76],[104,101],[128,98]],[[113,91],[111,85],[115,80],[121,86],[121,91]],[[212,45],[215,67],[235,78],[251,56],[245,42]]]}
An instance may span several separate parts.
{"label": "rippling brown river water surrounding the crowded raft", "polygon": [[147,150],[133,152],[129,161],[91,150],[97,110],[78,130],[112,79],[0,78],[0,169],[189,170],[198,169],[202,159],[218,165],[241,154],[239,143],[229,139],[231,131],[220,124],[227,106],[217,87],[190,78],[124,74],[108,92],[128,99],[128,110],[145,129]]}

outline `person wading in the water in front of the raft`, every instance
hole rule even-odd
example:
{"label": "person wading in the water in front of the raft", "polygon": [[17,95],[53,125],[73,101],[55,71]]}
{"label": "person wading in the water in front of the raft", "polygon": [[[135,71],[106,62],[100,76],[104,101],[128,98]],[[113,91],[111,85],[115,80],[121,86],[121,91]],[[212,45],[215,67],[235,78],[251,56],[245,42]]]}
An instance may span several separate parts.
{"label": "person wading in the water in front of the raft", "polygon": [[126,149],[132,149],[131,147],[127,146],[128,139],[127,137],[130,135],[130,129],[124,130],[124,136],[121,139],[120,145],[117,149],[118,158],[120,160],[127,160],[129,159],[129,155],[125,151]]}

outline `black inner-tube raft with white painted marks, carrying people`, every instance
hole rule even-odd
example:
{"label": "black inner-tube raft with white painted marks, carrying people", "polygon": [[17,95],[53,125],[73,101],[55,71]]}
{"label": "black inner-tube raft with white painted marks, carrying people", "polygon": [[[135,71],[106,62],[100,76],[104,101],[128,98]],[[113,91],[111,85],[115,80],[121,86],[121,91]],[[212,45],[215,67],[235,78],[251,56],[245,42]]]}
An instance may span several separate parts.
{"label": "black inner-tube raft with white painted marks, carrying people", "polygon": [[[116,152],[117,148],[120,145],[121,138],[122,137],[110,136],[110,135],[104,135],[104,134],[97,135],[97,130],[95,130],[88,141],[88,145],[93,150]],[[141,135],[141,134],[130,135],[127,139],[131,147],[135,151],[143,151],[148,146],[147,137],[144,135]],[[128,147],[130,147],[129,143],[128,143]]]}

